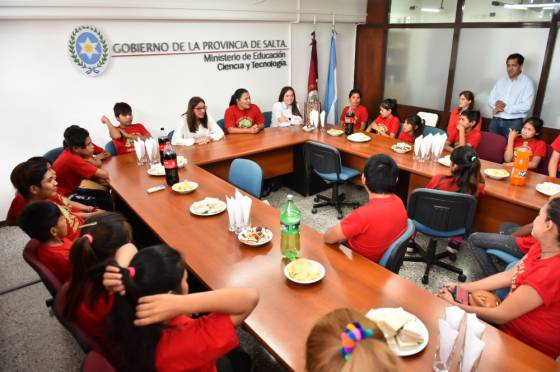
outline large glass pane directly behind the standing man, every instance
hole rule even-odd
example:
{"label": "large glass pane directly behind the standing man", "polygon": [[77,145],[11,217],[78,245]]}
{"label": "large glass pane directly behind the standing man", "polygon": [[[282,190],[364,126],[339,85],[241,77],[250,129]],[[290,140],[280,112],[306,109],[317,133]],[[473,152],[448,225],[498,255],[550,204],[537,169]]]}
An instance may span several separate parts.
{"label": "large glass pane directly behind the standing man", "polygon": [[547,39],[548,29],[544,28],[462,29],[451,107],[456,107],[459,92],[470,90],[475,108],[484,117],[492,117],[488,96],[496,81],[506,75],[506,59],[512,53],[525,57],[523,72],[533,80],[536,92]]}

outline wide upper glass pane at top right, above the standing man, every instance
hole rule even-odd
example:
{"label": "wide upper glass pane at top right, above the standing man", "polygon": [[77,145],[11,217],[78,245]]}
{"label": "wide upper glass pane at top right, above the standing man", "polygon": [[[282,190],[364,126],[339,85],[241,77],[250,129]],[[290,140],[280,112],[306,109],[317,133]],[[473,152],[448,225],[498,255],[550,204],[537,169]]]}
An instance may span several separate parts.
{"label": "wide upper glass pane at top right, above the standing man", "polygon": [[[551,3],[551,1],[545,1]],[[513,4],[516,3],[516,4]],[[524,4],[531,3],[528,7]],[[534,7],[535,3],[537,7]],[[552,7],[540,7],[539,1],[465,0],[463,22],[547,22]]]}

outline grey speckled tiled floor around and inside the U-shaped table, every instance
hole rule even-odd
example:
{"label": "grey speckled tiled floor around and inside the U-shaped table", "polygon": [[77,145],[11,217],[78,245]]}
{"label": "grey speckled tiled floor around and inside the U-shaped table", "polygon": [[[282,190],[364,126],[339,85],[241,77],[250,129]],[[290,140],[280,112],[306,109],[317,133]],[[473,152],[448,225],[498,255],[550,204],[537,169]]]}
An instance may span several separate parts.
{"label": "grey speckled tiled floor around and inside the U-shaped table", "polygon": [[[343,187],[347,200],[362,203],[367,201],[367,194],[353,185]],[[280,208],[291,193],[282,188],[266,199],[273,207]],[[326,192],[328,193],[328,191]],[[338,223],[336,212],[332,208],[322,208],[317,214],[311,214],[313,198],[303,198],[294,193],[294,200],[302,211],[303,222],[318,231],[325,231]],[[345,211],[348,214],[350,209]],[[21,251],[27,242],[27,236],[18,228],[0,229],[0,362],[5,371],[77,371],[80,368],[83,353],[68,332],[49,314],[45,300],[49,294],[42,283],[35,283],[10,291],[38,279],[37,275],[23,261]],[[425,239],[419,237],[421,242]],[[425,243],[425,242],[424,242]],[[442,242],[443,244],[443,242]],[[442,249],[442,248],[441,248]],[[457,261],[469,280],[475,280],[481,272],[473,256],[465,246],[460,251]],[[420,283],[424,265],[405,262],[400,275],[423,286]],[[456,281],[455,275],[439,268],[434,268],[428,286],[434,292],[445,281]],[[239,332],[242,346],[253,356],[258,371],[281,371],[273,358],[256,344],[254,338],[244,331]]]}

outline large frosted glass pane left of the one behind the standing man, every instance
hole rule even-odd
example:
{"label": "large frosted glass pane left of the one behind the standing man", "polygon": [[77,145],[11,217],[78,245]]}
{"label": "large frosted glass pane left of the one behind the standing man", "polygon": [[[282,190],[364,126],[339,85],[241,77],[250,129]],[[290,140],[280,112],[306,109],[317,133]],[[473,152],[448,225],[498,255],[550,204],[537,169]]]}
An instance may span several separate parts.
{"label": "large frosted glass pane left of the one behind the standing man", "polygon": [[389,30],[384,96],[442,110],[452,40],[452,29]]}

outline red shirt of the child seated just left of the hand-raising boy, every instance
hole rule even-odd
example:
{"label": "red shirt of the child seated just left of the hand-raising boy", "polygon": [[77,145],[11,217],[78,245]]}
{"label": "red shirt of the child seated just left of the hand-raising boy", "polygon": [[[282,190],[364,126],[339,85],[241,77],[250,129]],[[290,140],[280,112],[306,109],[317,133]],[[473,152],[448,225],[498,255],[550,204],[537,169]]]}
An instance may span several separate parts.
{"label": "red shirt of the child seated just left of the hand-raising boy", "polygon": [[82,180],[90,179],[97,172],[97,167],[88,163],[84,158],[64,149],[53,164],[58,181],[58,191],[69,196],[76,192]]}

